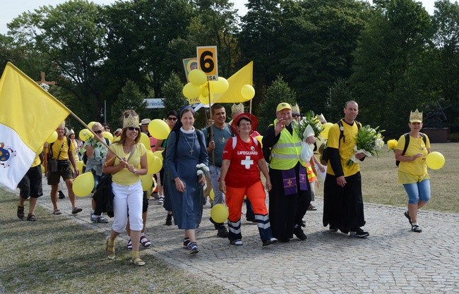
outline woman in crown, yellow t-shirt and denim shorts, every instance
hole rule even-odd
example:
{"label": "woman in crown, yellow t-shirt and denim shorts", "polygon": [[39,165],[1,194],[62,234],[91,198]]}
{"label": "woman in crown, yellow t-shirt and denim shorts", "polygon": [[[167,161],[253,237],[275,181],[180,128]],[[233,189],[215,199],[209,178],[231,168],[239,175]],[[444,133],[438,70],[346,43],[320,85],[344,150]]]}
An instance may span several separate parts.
{"label": "woman in crown, yellow t-shirt and denim shorts", "polygon": [[[422,129],[422,112],[410,112],[410,133],[401,135],[395,149],[398,166],[398,183],[403,185],[408,195],[408,210],[405,216],[410,222],[411,231],[421,233],[422,228],[417,221],[417,210],[430,199],[430,180],[427,173],[426,157],[430,153],[430,141],[427,135],[420,133]],[[405,149],[405,142],[408,141]],[[404,152],[405,151],[405,152]]]}

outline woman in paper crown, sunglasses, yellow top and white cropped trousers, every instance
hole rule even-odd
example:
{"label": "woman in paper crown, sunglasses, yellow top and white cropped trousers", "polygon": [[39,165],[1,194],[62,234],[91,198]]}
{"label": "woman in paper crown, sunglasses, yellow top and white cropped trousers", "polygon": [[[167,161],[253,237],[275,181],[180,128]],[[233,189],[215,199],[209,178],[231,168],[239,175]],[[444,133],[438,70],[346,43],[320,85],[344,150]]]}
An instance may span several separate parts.
{"label": "woman in paper crown, sunglasses, yellow top and white cropped trousers", "polygon": [[[109,147],[103,172],[112,174],[114,221],[107,237],[106,250],[109,259],[114,259],[114,240],[124,231],[128,223],[131,228],[132,259],[140,267],[145,264],[138,254],[141,239],[143,189],[139,176],[147,173],[147,154],[143,144],[138,144],[141,130],[138,128],[136,111],[123,113],[121,139]],[[117,154],[117,157],[115,157]],[[120,159],[121,158],[121,159]],[[128,214],[129,212],[129,214]]]}

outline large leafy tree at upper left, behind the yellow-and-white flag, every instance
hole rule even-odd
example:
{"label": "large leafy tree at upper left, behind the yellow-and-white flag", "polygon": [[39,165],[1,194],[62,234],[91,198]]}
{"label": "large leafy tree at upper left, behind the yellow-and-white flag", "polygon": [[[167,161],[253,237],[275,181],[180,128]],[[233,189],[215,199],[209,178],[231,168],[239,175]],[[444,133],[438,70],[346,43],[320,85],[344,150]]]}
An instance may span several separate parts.
{"label": "large leafy tree at upper left, behind the yellow-and-white flag", "polygon": [[84,121],[99,118],[106,97],[97,77],[105,57],[99,16],[100,6],[75,0],[55,8],[42,6],[8,24],[18,48],[40,53],[34,60],[47,65],[47,75],[56,77],[59,98]]}

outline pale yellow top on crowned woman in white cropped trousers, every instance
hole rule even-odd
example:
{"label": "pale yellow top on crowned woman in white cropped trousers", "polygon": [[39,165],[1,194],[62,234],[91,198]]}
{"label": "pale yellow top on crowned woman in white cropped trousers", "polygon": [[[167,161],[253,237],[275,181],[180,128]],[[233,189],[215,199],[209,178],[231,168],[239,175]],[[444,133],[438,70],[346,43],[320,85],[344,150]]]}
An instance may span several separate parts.
{"label": "pale yellow top on crowned woman in white cropped trousers", "polygon": [[[119,157],[125,157],[126,159],[129,158],[129,153],[124,153],[123,150],[123,145],[114,143],[110,145],[110,150],[114,152],[114,154],[117,154]],[[145,148],[145,145],[143,144],[137,144],[136,146],[136,151],[132,154],[131,158],[129,159],[129,164],[132,164],[133,166],[136,166],[136,168],[141,167],[141,157],[143,154],[147,152],[147,149]],[[114,165],[119,164],[120,160],[118,157],[115,157],[114,159]],[[119,185],[133,185],[138,182],[139,177],[135,173],[131,173],[128,169],[121,169],[121,171],[117,171],[116,173],[112,173],[112,180],[119,184]]]}

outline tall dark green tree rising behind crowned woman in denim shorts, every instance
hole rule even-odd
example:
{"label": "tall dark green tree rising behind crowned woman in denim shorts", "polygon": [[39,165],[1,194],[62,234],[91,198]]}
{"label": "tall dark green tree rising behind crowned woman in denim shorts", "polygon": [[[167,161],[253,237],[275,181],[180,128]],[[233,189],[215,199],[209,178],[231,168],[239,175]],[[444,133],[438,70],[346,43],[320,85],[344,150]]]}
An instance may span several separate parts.
{"label": "tall dark green tree rising behind crowned woman in denim shorts", "polygon": [[[386,137],[405,132],[411,109],[431,102],[416,81],[431,36],[429,14],[412,0],[375,1],[355,53],[352,92],[360,121],[380,125]],[[400,103],[403,102],[403,103]]]}

